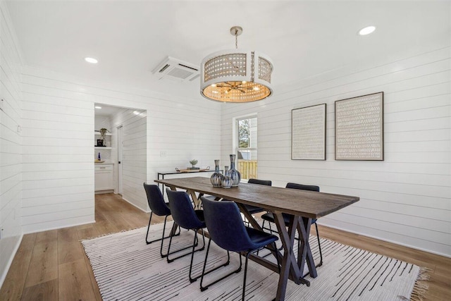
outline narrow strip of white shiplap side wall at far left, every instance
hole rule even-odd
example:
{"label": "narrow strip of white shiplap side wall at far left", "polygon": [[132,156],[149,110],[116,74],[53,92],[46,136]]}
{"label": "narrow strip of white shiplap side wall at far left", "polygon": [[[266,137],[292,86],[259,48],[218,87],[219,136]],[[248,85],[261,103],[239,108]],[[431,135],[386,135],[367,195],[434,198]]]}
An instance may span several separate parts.
{"label": "narrow strip of white shiplap side wall at far left", "polygon": [[8,10],[0,1],[0,286],[22,237],[21,61]]}

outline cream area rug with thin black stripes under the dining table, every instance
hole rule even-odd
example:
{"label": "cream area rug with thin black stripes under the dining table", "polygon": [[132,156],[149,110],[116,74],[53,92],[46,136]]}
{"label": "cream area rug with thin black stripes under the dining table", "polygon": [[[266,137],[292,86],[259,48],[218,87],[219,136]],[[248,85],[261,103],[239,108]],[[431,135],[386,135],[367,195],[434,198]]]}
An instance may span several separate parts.
{"label": "cream area rug with thin black stripes under the dining table", "polygon": [[[149,236],[160,237],[162,228],[161,224],[151,226]],[[194,283],[188,280],[190,255],[168,264],[160,256],[159,242],[146,245],[146,231],[147,227],[82,240],[104,300],[241,299],[242,271],[201,292],[200,279]],[[171,250],[190,245],[193,235],[192,231],[182,231],[173,238]],[[316,237],[311,237],[310,245],[315,262],[319,262]],[[426,274],[414,264],[326,239],[321,239],[321,250],[323,265],[317,268],[318,277],[306,277],[309,287],[288,281],[285,300],[421,300],[426,289],[415,284]],[[205,252],[194,254],[194,276],[202,272]],[[263,252],[268,251],[260,255]],[[271,257],[268,254],[266,259]],[[212,242],[207,269],[225,260],[226,252]],[[231,254],[230,264],[206,276],[204,285],[238,265],[238,255]],[[249,260],[246,300],[273,300],[277,285],[278,274]]]}

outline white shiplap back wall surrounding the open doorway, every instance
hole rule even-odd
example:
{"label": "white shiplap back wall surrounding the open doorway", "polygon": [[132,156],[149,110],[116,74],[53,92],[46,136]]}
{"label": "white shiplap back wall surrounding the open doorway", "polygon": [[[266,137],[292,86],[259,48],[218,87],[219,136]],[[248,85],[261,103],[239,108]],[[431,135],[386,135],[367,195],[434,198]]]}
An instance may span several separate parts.
{"label": "white shiplap back wall surrounding the open doorway", "polygon": [[219,156],[219,105],[200,97],[153,94],[31,67],[23,68],[22,88],[24,233],[94,221],[94,103],[152,111],[147,182],[193,154],[205,161]]}

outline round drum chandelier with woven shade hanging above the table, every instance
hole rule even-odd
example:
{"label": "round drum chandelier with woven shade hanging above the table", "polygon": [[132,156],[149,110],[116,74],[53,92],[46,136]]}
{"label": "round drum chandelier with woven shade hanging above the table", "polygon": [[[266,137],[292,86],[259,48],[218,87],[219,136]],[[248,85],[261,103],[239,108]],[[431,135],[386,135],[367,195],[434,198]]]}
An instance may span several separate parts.
{"label": "round drum chandelier with woven shade hanging above the table", "polygon": [[201,63],[201,94],[218,102],[255,102],[270,96],[273,63],[257,51],[238,49],[242,27],[230,28],[235,49],[217,51]]}

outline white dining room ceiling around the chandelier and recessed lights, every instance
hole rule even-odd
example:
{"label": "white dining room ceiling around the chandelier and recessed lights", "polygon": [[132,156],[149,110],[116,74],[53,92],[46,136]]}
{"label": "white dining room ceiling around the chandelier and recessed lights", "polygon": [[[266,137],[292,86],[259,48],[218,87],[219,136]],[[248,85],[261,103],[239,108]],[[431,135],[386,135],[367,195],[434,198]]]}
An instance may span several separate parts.
{"label": "white dining room ceiling around the chandelier and recessed lights", "polygon": [[[171,93],[166,56],[199,66],[238,47],[273,59],[273,86],[451,36],[450,1],[7,1],[29,66]],[[376,32],[359,36],[366,25]],[[83,58],[92,56],[97,65]],[[171,90],[172,87],[172,90]],[[199,82],[180,87],[199,97]]]}

